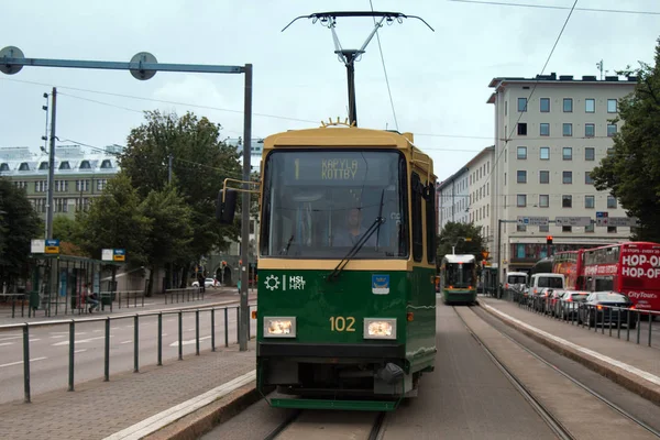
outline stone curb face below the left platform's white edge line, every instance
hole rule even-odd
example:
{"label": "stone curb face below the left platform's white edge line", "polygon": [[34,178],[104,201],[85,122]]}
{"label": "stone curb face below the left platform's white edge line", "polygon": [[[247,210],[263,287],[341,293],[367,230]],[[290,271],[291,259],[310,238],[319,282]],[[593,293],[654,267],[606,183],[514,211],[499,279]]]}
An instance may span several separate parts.
{"label": "stone curb face below the left platform's white edge line", "polygon": [[256,382],[193,411],[158,431],[143,437],[145,440],[194,440],[237,416],[262,398]]}

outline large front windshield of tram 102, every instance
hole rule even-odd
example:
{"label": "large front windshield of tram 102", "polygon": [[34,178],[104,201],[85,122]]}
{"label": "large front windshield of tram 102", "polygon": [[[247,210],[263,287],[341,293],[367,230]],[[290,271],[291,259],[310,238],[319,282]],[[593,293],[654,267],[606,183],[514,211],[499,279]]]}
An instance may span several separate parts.
{"label": "large front windshield of tram 102", "polygon": [[262,256],[342,258],[365,235],[354,258],[408,256],[400,153],[276,151],[264,173]]}

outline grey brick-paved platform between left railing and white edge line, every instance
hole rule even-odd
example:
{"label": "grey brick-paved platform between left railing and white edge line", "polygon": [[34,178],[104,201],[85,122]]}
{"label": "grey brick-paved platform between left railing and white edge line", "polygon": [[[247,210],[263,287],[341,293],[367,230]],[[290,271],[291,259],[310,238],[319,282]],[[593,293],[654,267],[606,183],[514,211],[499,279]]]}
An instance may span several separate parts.
{"label": "grey brick-paved platform between left railing and white edge line", "polygon": [[[184,361],[169,361],[163,366],[144,367],[140,373],[118,374],[110,382],[76,384],[75,392],[36,395],[32,404],[0,405],[1,437],[103,439],[183,403],[184,407],[190,405],[187,400],[254,369],[254,341],[251,341],[244,352],[231,345]],[[140,438],[124,436],[125,431],[113,438]]]}

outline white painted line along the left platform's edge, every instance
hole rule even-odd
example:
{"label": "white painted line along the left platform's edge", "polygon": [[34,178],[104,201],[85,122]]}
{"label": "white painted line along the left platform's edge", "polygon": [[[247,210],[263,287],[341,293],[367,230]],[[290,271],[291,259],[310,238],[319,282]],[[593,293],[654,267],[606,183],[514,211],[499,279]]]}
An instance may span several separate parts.
{"label": "white painted line along the left platform's edge", "polygon": [[256,370],[252,370],[250,373],[243,374],[230,381],[226,384],[220,385],[209,392],[206,392],[197,397],[193,397],[189,400],[184,402],[177,406],[166,409],[162,413],[156,414],[145,420],[142,420],[127,429],[113,433],[112,436],[106,437],[103,440],[138,440],[142,439],[158,429],[172,424],[182,417],[202,408],[213,400],[217,400],[229,393],[248,385],[256,380]]}

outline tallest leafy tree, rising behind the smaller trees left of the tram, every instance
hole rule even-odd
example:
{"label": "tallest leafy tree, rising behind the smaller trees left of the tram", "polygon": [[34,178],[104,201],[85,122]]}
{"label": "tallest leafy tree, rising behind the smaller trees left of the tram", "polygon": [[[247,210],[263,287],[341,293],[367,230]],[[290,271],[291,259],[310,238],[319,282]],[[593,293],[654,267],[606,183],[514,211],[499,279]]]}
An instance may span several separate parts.
{"label": "tallest leafy tree, rising behind the smaller trees left of the tram", "polygon": [[[224,178],[241,178],[237,148],[220,141],[219,124],[190,112],[179,118],[148,111],[145,119],[129,135],[128,148],[120,156],[122,173],[145,198],[167,185],[172,157],[172,184],[190,208],[188,263],[213,249],[228,249],[239,230],[235,224],[222,226],[216,220],[216,199]],[[184,274],[187,268],[183,268]]]}

